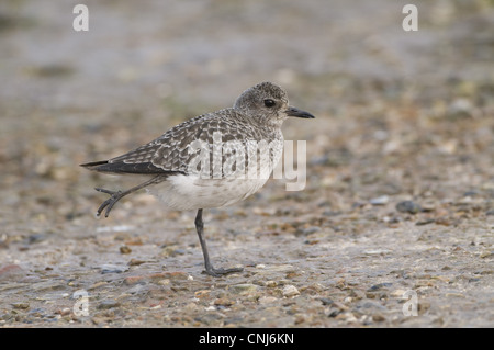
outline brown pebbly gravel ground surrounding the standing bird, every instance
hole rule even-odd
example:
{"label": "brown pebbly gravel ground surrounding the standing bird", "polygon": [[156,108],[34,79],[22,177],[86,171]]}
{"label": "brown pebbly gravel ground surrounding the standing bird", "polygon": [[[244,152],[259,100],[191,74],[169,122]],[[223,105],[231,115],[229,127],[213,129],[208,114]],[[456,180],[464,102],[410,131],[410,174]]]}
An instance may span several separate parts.
{"label": "brown pebbly gravel ground surrounding the standing bird", "polygon": [[[494,7],[416,1],[0,4],[0,326],[492,327]],[[145,193],[108,219],[117,156],[263,80],[316,120],[303,191],[205,211]],[[414,315],[416,306],[416,315]]]}

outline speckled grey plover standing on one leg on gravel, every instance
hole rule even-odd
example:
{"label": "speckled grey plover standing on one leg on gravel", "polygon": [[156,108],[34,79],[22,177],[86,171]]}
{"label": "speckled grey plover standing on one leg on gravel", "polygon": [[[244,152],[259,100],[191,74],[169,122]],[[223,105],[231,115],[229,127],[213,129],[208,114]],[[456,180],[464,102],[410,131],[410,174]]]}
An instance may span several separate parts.
{"label": "speckled grey plover standing on one leg on gravel", "polygon": [[281,158],[281,125],[289,116],[314,117],[290,106],[282,88],[261,82],[244,91],[233,108],[186,121],[122,156],[81,165],[99,172],[147,176],[146,181],[126,191],[97,188],[110,194],[97,215],[104,211],[108,217],[122,197],[146,188],[175,210],[198,211],[194,224],[207,274],[242,271],[213,268],[202,211],[245,200],[266,183]]}

